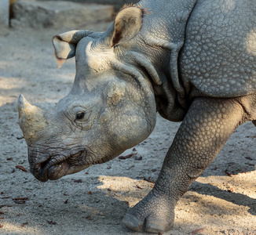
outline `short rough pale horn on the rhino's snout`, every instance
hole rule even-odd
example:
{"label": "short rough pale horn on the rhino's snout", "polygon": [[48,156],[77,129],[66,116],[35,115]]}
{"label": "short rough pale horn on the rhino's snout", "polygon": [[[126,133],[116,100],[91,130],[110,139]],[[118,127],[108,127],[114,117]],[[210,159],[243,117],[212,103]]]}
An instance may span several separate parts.
{"label": "short rough pale horn on the rhino's snout", "polygon": [[46,120],[45,111],[31,105],[23,95],[18,100],[19,124],[27,143],[38,138],[38,132],[46,128],[49,122]]}

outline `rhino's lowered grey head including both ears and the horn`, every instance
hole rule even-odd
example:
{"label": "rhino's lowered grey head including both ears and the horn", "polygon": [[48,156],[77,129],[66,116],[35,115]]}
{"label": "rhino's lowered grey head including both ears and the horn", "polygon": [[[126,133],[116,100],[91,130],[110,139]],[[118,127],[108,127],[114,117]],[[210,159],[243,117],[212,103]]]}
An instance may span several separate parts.
{"label": "rhino's lowered grey head including both ears and the horn", "polygon": [[[144,10],[122,9],[104,33],[70,31],[53,38],[60,62],[75,56],[71,92],[45,111],[20,95],[19,123],[31,172],[42,182],[104,163],[141,143],[155,127],[155,96],[141,68],[137,40]],[[133,53],[134,52],[134,53]]]}

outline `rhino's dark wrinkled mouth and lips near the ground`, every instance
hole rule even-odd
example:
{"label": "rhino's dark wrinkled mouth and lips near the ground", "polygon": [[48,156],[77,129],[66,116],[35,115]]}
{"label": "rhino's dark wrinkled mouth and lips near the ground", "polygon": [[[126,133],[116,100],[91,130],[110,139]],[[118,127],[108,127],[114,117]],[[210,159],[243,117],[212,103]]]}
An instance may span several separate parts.
{"label": "rhino's dark wrinkled mouth and lips near the ground", "polygon": [[64,175],[78,172],[75,166],[81,165],[81,159],[85,156],[86,150],[79,150],[76,154],[68,156],[49,155],[44,161],[31,164],[31,173],[42,182],[57,180]]}

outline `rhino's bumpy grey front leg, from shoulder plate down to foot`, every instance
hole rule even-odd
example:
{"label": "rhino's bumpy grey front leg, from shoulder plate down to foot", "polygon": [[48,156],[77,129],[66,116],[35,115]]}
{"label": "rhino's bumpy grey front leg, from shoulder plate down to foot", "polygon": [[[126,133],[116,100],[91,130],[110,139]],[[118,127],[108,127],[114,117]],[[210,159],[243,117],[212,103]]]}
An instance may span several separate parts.
{"label": "rhino's bumpy grey front leg, from shoulder plate down to foot", "polygon": [[166,154],[155,187],[126,213],[124,224],[136,231],[170,230],[177,200],[214,160],[245,121],[244,116],[236,99],[195,99]]}

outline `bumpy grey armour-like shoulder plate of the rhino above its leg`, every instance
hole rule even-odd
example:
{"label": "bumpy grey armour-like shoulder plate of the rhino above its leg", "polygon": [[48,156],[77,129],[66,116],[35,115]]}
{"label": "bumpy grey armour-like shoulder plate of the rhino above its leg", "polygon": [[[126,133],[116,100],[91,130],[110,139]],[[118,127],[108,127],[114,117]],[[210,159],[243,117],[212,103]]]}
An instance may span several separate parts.
{"label": "bumpy grey armour-like shoulder plate of the rhino above its leg", "polygon": [[188,20],[180,71],[191,96],[256,93],[256,1],[199,0]]}

